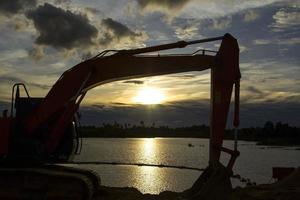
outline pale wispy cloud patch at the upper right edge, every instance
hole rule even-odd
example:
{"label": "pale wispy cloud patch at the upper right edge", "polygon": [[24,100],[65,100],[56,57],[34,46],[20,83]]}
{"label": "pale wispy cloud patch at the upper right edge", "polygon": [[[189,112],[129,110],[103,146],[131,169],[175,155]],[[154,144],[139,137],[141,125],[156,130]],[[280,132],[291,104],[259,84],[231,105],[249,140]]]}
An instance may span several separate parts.
{"label": "pale wispy cloud patch at the upper right edge", "polygon": [[274,31],[283,31],[287,28],[300,26],[300,10],[280,9],[273,15],[275,22],[271,25]]}

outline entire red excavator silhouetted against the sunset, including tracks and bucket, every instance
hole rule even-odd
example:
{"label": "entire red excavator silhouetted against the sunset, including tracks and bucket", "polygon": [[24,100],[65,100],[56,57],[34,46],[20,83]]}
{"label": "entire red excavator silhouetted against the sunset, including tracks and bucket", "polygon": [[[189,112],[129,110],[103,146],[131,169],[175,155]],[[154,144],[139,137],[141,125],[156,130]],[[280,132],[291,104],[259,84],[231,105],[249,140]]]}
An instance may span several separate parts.
{"label": "entire red excavator silhouetted against the sunset, including tracks and bucket", "polygon": [[[218,51],[154,53],[218,40]],[[15,84],[10,115],[4,110],[0,117],[0,199],[93,199],[101,185],[100,177],[89,170],[60,165],[71,161],[80,148],[76,113],[87,91],[118,80],[207,69],[211,71],[209,164],[185,194],[187,199],[216,196],[217,192],[210,188],[225,180],[220,177],[220,170],[230,171],[239,155],[236,144],[234,149],[223,147],[233,91],[233,125],[239,125],[239,46],[229,33],[195,41],[103,51],[65,71],[43,98],[31,97],[23,83]],[[226,166],[220,162],[222,152],[230,154]]]}

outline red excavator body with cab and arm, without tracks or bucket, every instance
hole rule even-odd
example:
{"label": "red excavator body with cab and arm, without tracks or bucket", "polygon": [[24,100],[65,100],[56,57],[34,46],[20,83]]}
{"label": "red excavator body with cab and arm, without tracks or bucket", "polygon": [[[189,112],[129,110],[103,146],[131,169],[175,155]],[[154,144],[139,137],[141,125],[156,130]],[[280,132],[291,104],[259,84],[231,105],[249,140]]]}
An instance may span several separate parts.
{"label": "red excavator body with cab and arm, without tracks or bucket", "polygon": [[[215,40],[222,40],[215,55],[208,55],[205,50],[201,54],[145,55]],[[217,165],[220,154],[224,151],[231,154],[227,165],[231,169],[238,151],[229,150],[222,145],[234,86],[234,126],[239,124],[241,75],[238,43],[230,34],[113,53],[104,51],[65,71],[44,98],[30,97],[23,84],[16,84],[13,88],[10,116],[5,111],[0,118],[1,163],[15,167],[23,161],[30,165],[68,161],[78,144],[76,112],[86,92],[98,85],[117,80],[206,69],[211,69],[209,165]],[[26,92],[25,97],[20,96],[22,86]]]}

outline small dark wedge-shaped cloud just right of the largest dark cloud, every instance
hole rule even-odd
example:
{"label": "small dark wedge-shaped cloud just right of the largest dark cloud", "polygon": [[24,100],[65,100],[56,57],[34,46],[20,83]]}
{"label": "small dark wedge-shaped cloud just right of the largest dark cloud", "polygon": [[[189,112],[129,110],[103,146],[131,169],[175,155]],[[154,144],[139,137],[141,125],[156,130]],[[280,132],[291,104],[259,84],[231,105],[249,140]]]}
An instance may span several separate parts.
{"label": "small dark wedge-shaped cloud just right of the largest dark cloud", "polygon": [[142,33],[136,33],[124,24],[121,24],[111,18],[103,19],[101,24],[104,30],[103,38],[100,40],[100,44],[102,45],[108,45],[115,39],[118,41],[124,38],[135,40],[136,37],[142,36]]}

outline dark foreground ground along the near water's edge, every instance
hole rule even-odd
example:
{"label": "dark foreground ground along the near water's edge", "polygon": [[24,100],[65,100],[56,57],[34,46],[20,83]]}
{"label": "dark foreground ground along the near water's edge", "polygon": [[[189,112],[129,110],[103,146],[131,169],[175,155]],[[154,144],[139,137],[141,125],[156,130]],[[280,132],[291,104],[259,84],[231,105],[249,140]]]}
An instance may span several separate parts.
{"label": "dark foreground ground along the near water's edge", "polygon": [[[299,200],[300,167],[281,181],[257,186],[236,187],[229,195],[230,200]],[[93,200],[189,200],[184,192],[164,191],[158,195],[143,194],[133,187],[100,186]]]}

